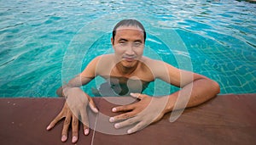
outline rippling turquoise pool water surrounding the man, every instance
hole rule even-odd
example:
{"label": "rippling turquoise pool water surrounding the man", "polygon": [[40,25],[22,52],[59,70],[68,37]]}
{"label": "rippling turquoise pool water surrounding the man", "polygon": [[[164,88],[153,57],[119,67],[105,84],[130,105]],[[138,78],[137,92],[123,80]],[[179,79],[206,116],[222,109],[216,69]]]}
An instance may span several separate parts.
{"label": "rippling turquoise pool water surrounding the man", "polygon": [[[160,59],[178,68],[186,65],[178,57],[189,59],[190,70],[218,81],[222,94],[255,93],[255,10],[255,3],[233,0],[0,1],[0,97],[56,97],[55,90],[69,75],[63,72],[67,67],[63,62],[76,59],[67,57],[74,38],[86,30],[79,38],[81,44],[95,40],[80,49],[88,50],[79,60],[83,70],[96,55],[111,52],[112,24],[124,18],[143,22],[150,31],[146,44]],[[98,21],[102,23],[94,23]],[[104,35],[90,33],[92,25],[99,31],[109,30]],[[177,33],[187,52],[162,41],[168,31]],[[152,93],[154,83],[147,93]],[[91,82],[90,86],[96,85]],[[159,87],[163,90],[166,84]]]}

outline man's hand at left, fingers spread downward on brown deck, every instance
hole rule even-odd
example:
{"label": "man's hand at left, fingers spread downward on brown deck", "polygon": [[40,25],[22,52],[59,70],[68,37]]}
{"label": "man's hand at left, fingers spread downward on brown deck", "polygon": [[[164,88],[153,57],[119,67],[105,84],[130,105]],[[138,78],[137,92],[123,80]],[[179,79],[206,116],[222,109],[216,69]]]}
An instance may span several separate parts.
{"label": "man's hand at left, fingers spread downward on brown deck", "polygon": [[83,92],[79,87],[67,88],[64,90],[64,94],[67,97],[67,101],[61,109],[61,112],[50,122],[47,130],[49,131],[57,122],[65,118],[61,133],[61,141],[66,142],[68,128],[72,120],[72,142],[75,143],[79,138],[79,116],[81,122],[84,124],[84,135],[88,135],[90,128],[87,116],[87,105],[89,104],[90,109],[95,113],[98,113],[98,109],[96,109],[96,105],[92,98],[90,98],[90,96]]}

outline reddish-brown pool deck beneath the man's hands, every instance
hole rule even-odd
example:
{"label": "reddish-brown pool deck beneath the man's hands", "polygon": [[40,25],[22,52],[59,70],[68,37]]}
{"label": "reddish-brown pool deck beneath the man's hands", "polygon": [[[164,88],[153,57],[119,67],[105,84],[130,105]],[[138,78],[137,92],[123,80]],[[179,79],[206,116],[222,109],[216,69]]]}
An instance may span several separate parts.
{"label": "reddish-brown pool deck beneath the man's hands", "polygon": [[[94,99],[101,114],[113,115],[110,109],[115,104],[111,100],[116,98]],[[46,131],[64,101],[64,98],[0,98],[1,144],[72,144],[71,131],[67,142],[61,142],[63,121]],[[113,125],[96,116],[99,115],[90,113],[90,124],[96,131],[90,130],[85,137],[80,125],[77,144],[256,144],[256,93],[218,95],[207,103],[185,109],[175,122],[169,122],[170,114],[166,114],[159,122],[131,135],[104,133],[102,128],[107,131]]]}

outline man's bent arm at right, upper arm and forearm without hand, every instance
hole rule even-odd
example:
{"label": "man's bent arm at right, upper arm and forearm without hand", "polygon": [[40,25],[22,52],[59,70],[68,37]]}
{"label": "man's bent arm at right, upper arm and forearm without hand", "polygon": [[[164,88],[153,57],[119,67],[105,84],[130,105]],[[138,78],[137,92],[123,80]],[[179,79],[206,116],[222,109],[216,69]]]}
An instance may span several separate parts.
{"label": "man's bent arm at right, upper arm and forearm without hand", "polygon": [[165,63],[165,65],[167,75],[162,72],[159,74],[160,79],[174,86],[182,87],[180,91],[167,96],[166,112],[170,112],[173,109],[194,107],[215,97],[220,92],[218,83],[206,76],[179,70],[170,64]]}

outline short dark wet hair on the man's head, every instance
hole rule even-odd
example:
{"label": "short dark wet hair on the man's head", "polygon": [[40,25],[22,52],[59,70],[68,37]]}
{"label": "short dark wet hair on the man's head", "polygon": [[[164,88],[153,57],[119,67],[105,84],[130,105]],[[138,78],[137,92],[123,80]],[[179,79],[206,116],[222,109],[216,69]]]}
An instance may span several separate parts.
{"label": "short dark wet hair on the man's head", "polygon": [[119,28],[119,26],[124,26],[124,25],[125,26],[137,26],[140,29],[142,29],[143,33],[144,33],[144,42],[145,42],[145,40],[146,40],[146,31],[145,31],[144,26],[142,25],[142,23],[137,21],[137,20],[121,20],[121,21],[119,21],[119,23],[116,24],[113,27],[113,31],[112,31],[113,40],[114,40],[114,36],[116,34],[116,30]]}

